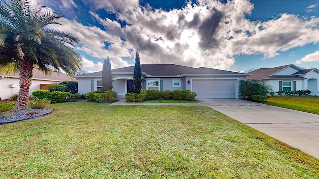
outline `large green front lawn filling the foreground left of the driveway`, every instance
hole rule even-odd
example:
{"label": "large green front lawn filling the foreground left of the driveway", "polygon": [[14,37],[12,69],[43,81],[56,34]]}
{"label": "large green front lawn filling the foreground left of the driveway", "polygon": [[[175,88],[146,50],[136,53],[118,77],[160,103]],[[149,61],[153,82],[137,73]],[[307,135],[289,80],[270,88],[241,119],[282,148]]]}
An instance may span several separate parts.
{"label": "large green front lawn filling the foreground left of the driveway", "polygon": [[204,106],[52,104],[0,126],[0,178],[319,178],[319,160]]}

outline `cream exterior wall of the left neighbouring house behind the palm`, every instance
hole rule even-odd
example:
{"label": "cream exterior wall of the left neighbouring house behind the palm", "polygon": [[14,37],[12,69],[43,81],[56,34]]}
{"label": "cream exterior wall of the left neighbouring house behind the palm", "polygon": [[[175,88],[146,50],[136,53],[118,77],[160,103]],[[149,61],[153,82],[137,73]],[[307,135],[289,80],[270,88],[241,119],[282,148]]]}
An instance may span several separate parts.
{"label": "cream exterior wall of the left neighbouring house behind the palm", "polygon": [[[30,86],[29,95],[32,95],[34,90],[40,89],[40,84],[52,84],[52,83],[60,83],[61,81],[46,81],[46,80],[32,80],[32,84]],[[0,80],[0,97],[3,99],[7,99],[14,94],[18,94],[20,87],[20,78],[7,78],[4,77]],[[11,88],[11,84],[15,85],[15,88]]]}

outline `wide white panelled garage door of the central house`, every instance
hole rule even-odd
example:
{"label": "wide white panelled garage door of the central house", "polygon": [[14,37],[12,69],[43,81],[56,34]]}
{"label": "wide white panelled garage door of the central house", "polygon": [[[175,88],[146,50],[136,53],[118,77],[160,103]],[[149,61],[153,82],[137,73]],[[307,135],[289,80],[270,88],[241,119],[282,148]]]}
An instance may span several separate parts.
{"label": "wide white panelled garage door of the central house", "polygon": [[235,80],[193,79],[192,90],[197,93],[197,99],[233,99],[235,85]]}

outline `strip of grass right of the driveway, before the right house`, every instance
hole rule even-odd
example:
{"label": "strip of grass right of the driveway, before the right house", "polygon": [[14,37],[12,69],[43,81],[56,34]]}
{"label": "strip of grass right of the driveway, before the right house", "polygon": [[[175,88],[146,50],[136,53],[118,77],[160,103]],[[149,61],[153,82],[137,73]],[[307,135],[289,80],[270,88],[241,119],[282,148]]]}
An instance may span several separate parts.
{"label": "strip of grass right of the driveway, before the right house", "polygon": [[266,104],[319,114],[318,96],[272,96]]}

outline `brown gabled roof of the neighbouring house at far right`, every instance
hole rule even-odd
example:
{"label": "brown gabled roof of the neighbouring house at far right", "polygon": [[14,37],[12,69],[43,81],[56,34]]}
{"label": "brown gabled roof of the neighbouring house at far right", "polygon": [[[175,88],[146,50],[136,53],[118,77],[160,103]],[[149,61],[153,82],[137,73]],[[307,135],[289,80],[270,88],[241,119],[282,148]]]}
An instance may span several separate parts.
{"label": "brown gabled roof of the neighbouring house at far right", "polygon": [[[293,67],[297,70],[299,70],[298,72],[292,74],[292,75],[274,75],[277,72],[284,70],[287,67]],[[249,79],[256,79],[256,80],[267,80],[267,79],[304,79],[303,77],[298,77],[298,75],[304,75],[306,73],[309,73],[313,70],[316,69],[305,69],[305,70],[301,70],[300,67],[294,65],[294,64],[290,64],[290,65],[284,65],[284,66],[280,66],[280,67],[274,67],[274,68],[260,68],[257,70],[254,70],[252,72],[249,72],[249,74],[251,74],[251,76],[247,76],[245,77],[245,80],[249,80]]]}

